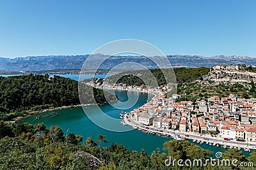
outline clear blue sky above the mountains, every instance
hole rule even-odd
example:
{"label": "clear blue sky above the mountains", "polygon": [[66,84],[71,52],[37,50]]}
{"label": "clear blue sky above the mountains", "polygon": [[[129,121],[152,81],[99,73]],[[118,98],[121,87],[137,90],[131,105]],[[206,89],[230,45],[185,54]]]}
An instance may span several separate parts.
{"label": "clear blue sky above the mountains", "polygon": [[0,57],[77,55],[134,38],[166,55],[256,57],[256,1],[0,1]]}

